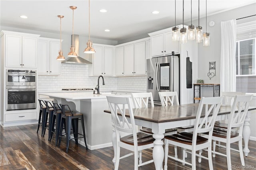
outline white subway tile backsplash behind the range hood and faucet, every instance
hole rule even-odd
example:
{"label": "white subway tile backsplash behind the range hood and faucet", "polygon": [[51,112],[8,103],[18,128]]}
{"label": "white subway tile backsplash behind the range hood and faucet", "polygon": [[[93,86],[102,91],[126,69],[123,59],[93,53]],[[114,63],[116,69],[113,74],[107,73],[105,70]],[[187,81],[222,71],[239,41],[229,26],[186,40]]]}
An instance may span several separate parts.
{"label": "white subway tile backsplash behind the range hood and faucet", "polygon": [[[92,88],[98,84],[98,77],[88,76],[88,65],[62,63],[61,75],[39,75],[38,91],[61,90],[66,88]],[[106,85],[102,90],[146,90],[146,76],[104,77]]]}

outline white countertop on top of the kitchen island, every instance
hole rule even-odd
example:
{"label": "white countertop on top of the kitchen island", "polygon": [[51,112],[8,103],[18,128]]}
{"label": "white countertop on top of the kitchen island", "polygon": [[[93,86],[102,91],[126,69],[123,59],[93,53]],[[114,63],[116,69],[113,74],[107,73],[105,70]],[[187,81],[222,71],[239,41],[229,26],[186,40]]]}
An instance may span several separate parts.
{"label": "white countertop on top of the kitchen island", "polygon": [[80,100],[80,99],[104,99],[106,96],[123,96],[130,97],[129,94],[115,95],[115,94],[93,94],[85,91],[68,91],[68,92],[52,92],[52,93],[38,93],[39,95],[46,95],[49,97],[57,97],[62,99]]}

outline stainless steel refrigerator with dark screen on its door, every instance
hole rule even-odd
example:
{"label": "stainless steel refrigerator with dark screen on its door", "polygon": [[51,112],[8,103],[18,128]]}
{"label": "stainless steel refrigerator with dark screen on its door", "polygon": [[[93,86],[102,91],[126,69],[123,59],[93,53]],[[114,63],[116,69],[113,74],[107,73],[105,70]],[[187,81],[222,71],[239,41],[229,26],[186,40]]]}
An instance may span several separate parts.
{"label": "stainless steel refrigerator with dark screen on its door", "polygon": [[147,59],[147,92],[155,104],[161,104],[160,91],[177,91],[180,101],[180,54]]}

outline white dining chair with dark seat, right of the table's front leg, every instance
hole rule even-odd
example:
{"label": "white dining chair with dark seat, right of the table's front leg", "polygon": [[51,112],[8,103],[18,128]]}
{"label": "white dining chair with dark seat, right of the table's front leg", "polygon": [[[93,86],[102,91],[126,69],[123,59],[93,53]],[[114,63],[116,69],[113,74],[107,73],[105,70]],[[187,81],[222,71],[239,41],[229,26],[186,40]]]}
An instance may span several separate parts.
{"label": "white dining chair with dark seat, right of the table's front leg", "polygon": [[[212,154],[208,152],[208,158],[199,154],[196,154],[196,151],[207,148],[211,150],[212,148],[212,132],[214,123],[222,103],[222,97],[202,97],[198,106],[196,113],[196,121],[194,125],[193,133],[181,132],[173,134],[170,136],[164,136],[164,170],[167,170],[167,160],[172,158],[176,161],[182,162],[182,164],[188,164],[192,166],[192,170],[196,170],[196,156],[208,159],[209,168],[213,170],[212,165]],[[204,113],[202,114],[202,112]],[[200,136],[201,133],[208,132],[208,138]],[[183,158],[178,159],[173,156],[168,155],[168,144],[174,146],[179,146],[183,149]],[[191,150],[192,161],[187,162],[185,160],[186,150]]]}

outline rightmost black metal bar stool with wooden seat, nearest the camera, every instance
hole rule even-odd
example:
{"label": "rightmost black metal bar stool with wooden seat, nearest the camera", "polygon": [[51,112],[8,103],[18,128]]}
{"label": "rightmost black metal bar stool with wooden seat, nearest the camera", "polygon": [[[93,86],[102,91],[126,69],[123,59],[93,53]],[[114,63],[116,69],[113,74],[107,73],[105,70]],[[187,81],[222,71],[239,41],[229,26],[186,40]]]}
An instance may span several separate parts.
{"label": "rightmost black metal bar stool with wooden seat, nearest the camera", "polygon": [[[65,106],[68,107],[68,112],[65,111]],[[85,130],[84,130],[84,115],[82,113],[73,113],[68,105],[60,104],[60,108],[62,111],[62,115],[61,115],[61,121],[60,121],[58,147],[60,147],[61,138],[63,138],[62,130],[63,130],[64,121],[65,121],[65,123],[66,123],[66,126],[65,126],[66,152],[68,152],[69,141],[71,139],[74,139],[76,144],[78,144],[78,138],[84,138],[84,144],[86,146],[86,149],[88,149],[87,144],[86,144],[86,138],[85,138]],[[81,121],[83,134],[78,133],[78,120]],[[71,124],[72,124],[74,138],[70,138]],[[78,135],[79,135],[79,137],[78,137]]]}

